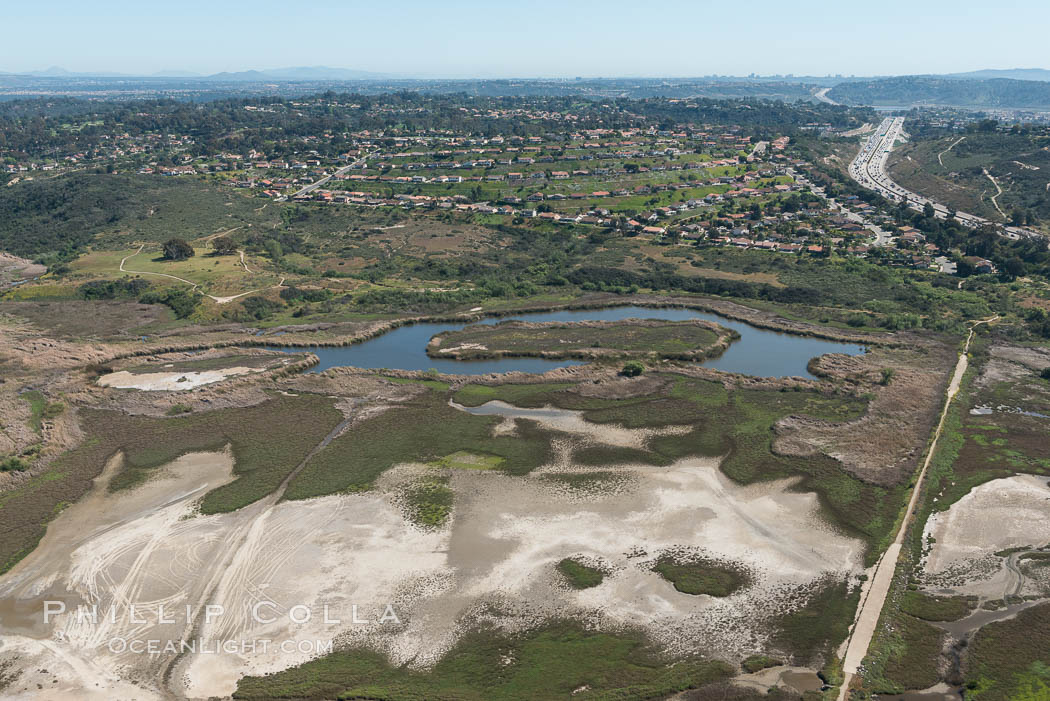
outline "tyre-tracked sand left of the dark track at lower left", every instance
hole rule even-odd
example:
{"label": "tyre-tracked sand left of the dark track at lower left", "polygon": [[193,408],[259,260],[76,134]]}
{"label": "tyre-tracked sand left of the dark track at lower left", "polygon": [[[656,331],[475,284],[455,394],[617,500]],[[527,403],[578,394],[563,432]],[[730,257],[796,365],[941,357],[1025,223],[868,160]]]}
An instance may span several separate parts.
{"label": "tyre-tracked sand left of the dark track at lower left", "polygon": [[[148,680],[156,660],[112,654],[107,643],[170,636],[172,626],[131,623],[123,604],[134,602],[155,623],[160,604],[177,611],[204,596],[194,575],[222,535],[212,524],[189,549],[167,538],[193,523],[182,517],[200,496],[232,479],[232,456],[184,455],[136,489],[110,493],[122,460],[110,460],[92,490],[51,522],[40,546],[0,580],[0,661],[14,661],[21,672],[5,689],[14,698],[156,698],[148,684],[131,684]],[[45,601],[62,602],[68,613],[45,623]],[[94,622],[88,608],[77,615],[81,604],[99,607]],[[110,606],[120,612],[111,618]]]}

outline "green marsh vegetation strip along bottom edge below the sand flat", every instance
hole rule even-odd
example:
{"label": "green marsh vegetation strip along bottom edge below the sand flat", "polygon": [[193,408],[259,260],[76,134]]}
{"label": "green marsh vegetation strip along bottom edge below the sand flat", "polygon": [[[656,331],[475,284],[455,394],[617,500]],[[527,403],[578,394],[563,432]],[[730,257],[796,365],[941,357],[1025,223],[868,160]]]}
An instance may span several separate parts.
{"label": "green marsh vegetation strip along bottom edge below the sand flat", "polygon": [[583,688],[588,699],[651,699],[733,674],[718,661],[665,662],[638,636],[552,623],[513,637],[475,633],[428,673],[391,666],[368,651],[339,652],[286,672],[242,679],[234,698],[517,701],[581,698]]}

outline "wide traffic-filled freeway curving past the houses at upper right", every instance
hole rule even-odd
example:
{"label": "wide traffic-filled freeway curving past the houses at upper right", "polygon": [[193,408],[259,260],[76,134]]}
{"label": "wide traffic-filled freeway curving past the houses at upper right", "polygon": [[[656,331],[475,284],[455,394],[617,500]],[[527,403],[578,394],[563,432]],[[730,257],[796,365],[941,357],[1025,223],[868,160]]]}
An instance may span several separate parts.
{"label": "wide traffic-filled freeway curving past the houses at upper right", "polygon": [[[875,133],[861,145],[857,156],[849,164],[849,175],[865,188],[875,190],[886,199],[907,201],[911,209],[922,210],[929,204],[933,208],[933,215],[937,218],[946,219],[949,212],[947,207],[917,192],[902,188],[889,177],[886,171],[889,152],[894,150],[894,146],[901,137],[903,130],[903,116],[884,119]],[[996,225],[994,221],[966,212],[956,212],[956,218],[963,225],[974,229],[989,224]],[[1021,227],[1005,227],[1004,235],[1009,238],[1020,238],[1022,236],[1037,236],[1038,234]]]}

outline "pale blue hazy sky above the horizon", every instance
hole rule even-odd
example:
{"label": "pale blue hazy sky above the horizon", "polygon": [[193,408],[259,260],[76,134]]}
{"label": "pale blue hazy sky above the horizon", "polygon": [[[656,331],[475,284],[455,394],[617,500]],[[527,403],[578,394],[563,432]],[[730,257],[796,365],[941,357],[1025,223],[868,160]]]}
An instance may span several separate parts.
{"label": "pale blue hazy sky above the horizon", "polygon": [[[1050,68],[1048,0],[3,0],[0,70],[426,77]],[[298,8],[298,9],[295,9]]]}

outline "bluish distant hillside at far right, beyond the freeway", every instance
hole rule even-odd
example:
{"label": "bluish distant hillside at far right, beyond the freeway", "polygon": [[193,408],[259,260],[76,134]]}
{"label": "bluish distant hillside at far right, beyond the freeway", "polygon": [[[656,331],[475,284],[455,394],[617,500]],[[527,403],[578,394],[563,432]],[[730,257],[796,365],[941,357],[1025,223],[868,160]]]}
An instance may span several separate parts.
{"label": "bluish distant hillside at far right, beyond the freeway", "polygon": [[827,94],[844,105],[909,106],[919,104],[954,107],[1050,107],[1050,83],[962,80],[931,76],[904,76],[875,81],[842,83]]}

